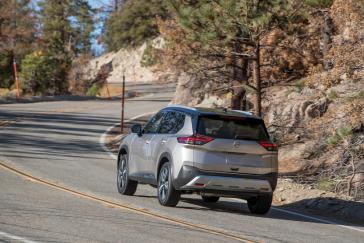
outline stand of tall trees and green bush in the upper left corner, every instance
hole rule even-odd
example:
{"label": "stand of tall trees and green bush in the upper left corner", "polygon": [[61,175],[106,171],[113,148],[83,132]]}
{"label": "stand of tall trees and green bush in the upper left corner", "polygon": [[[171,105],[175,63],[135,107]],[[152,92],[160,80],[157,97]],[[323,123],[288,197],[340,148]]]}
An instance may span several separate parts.
{"label": "stand of tall trees and green bush in the upper left corner", "polygon": [[14,89],[13,62],[23,93],[69,93],[74,60],[91,56],[94,10],[86,0],[0,3],[0,87]]}

